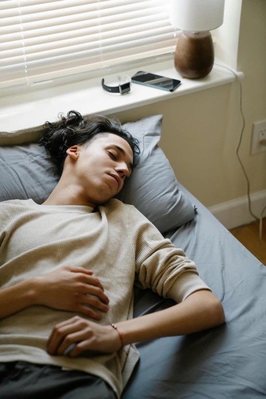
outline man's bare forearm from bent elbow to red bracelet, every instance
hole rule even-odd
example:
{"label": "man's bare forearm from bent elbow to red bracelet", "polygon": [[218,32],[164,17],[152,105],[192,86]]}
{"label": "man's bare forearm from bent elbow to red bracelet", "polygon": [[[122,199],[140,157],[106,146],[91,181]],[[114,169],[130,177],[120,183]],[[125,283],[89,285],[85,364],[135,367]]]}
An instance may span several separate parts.
{"label": "man's bare forearm from bent elbow to red bracelet", "polygon": [[116,323],[124,345],[160,337],[185,335],[224,323],[220,301],[208,290],[194,292],[168,309]]}

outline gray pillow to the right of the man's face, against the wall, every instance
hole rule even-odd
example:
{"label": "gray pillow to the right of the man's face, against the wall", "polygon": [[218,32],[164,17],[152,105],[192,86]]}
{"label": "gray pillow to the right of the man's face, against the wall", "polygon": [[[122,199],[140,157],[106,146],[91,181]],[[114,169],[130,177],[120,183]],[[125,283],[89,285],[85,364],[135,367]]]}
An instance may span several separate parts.
{"label": "gray pillow to the right of the man's face, against the wall", "polygon": [[163,234],[194,218],[194,206],[178,189],[174,171],[163,150],[163,115],[154,115],[123,125],[139,140],[140,163],[115,197],[134,205]]}

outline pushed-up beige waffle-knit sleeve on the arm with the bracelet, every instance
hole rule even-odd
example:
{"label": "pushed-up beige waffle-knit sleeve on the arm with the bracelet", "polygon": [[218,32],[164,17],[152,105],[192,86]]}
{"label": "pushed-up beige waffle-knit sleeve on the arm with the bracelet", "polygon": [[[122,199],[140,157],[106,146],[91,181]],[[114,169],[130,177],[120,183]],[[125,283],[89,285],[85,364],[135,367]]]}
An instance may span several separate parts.
{"label": "pushed-up beige waffle-knit sleeve on the arm with the bracelet", "polygon": [[[195,263],[141,212],[132,206],[131,220],[135,245],[135,284],[151,288],[164,298],[182,302],[193,292],[211,289],[200,279]],[[134,223],[133,223],[134,222]]]}

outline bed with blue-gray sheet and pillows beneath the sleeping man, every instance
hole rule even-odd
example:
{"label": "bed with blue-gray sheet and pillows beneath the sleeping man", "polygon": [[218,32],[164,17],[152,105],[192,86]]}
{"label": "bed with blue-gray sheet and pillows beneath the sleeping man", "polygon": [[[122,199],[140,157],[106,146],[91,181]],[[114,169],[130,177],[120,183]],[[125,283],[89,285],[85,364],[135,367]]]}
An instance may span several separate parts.
{"label": "bed with blue-gray sheet and pillows beneath the sleeping man", "polygon": [[[127,203],[135,200],[136,206],[146,203],[147,207],[139,210],[165,238],[195,261],[200,277],[222,302],[226,323],[187,336],[137,342],[140,361],[125,386],[122,399],[264,398],[266,268],[177,183],[157,146],[161,124],[162,116],[134,124],[131,134],[141,132],[143,136],[139,138],[141,144],[144,143],[143,154],[146,151],[147,156],[143,155],[142,169],[132,174],[128,183],[131,185],[120,199]],[[132,129],[130,124],[125,127]],[[15,134],[2,132],[1,137],[0,201],[32,198],[42,203],[59,179],[50,158],[37,144],[11,146]],[[163,178],[159,180],[161,172]],[[160,189],[155,195],[158,181]],[[152,198],[147,198],[148,195]],[[149,214],[152,204],[153,213]],[[165,210],[163,214],[161,209]],[[150,289],[134,287],[134,317],[172,305],[174,301],[159,297]]]}

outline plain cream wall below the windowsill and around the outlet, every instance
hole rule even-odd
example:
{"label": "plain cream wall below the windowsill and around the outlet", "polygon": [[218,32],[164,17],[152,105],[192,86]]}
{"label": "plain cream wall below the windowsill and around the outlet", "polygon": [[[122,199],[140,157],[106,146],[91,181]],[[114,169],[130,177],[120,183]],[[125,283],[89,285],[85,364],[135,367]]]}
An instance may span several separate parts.
{"label": "plain cream wall below the windowsill and around the outlet", "polygon": [[[266,119],[265,50],[266,2],[243,0],[237,69],[245,73],[246,127],[240,156],[250,178],[251,193],[266,189],[266,152],[250,155],[252,124]],[[236,157],[242,128],[237,82],[115,116],[125,122],[155,114],[164,115],[159,145],[177,179],[205,206],[247,194],[246,179]]]}

